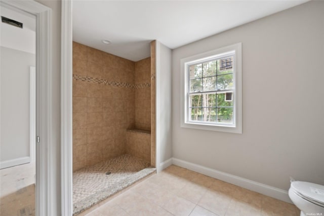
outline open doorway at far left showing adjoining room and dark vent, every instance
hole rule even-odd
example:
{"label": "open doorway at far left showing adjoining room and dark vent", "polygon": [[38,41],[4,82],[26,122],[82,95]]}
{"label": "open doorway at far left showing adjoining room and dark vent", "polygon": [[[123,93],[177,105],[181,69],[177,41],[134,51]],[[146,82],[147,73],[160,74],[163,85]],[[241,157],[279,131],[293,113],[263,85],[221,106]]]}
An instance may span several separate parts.
{"label": "open doorway at far left showing adjoining room and dark vent", "polygon": [[1,212],[35,214],[36,17],[1,8]]}

